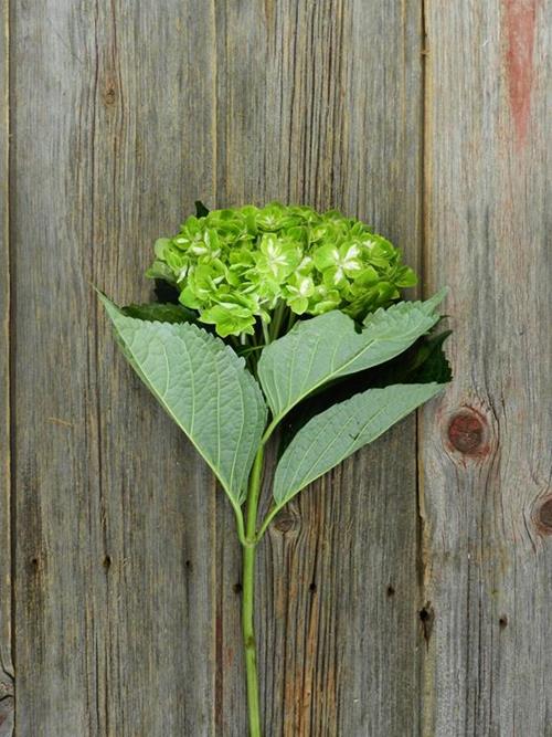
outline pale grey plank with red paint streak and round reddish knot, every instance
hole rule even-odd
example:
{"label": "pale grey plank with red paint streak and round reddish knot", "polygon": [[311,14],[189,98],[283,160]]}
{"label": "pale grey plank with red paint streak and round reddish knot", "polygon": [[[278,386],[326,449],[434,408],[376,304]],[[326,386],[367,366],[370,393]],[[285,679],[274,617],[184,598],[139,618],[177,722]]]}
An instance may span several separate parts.
{"label": "pale grey plank with red paint streak and round reddish knot", "polygon": [[551,4],[426,4],[426,287],[450,285],[456,379],[421,427],[423,734],[549,736]]}

